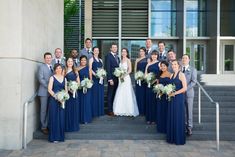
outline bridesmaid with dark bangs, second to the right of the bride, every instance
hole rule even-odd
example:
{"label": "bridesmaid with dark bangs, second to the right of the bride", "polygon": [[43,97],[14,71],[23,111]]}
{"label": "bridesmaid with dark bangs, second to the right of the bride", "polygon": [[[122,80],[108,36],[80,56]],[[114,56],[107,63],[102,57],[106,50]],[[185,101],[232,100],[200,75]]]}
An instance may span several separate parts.
{"label": "bridesmaid with dark bangs, second to the right of the bride", "polygon": [[[156,77],[159,75],[159,61],[158,52],[153,50],[151,53],[150,61],[145,68],[145,75],[147,73],[154,73]],[[147,124],[156,124],[157,122],[157,98],[153,92],[153,86],[150,88],[146,86],[146,121]]]}

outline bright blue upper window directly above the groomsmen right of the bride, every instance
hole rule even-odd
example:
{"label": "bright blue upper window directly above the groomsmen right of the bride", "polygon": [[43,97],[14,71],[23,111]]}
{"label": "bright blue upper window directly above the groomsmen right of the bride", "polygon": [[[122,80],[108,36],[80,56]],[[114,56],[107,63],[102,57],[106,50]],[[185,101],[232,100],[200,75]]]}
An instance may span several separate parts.
{"label": "bright blue upper window directly above the groomsmen right of the bride", "polygon": [[151,36],[176,36],[175,0],[151,1]]}

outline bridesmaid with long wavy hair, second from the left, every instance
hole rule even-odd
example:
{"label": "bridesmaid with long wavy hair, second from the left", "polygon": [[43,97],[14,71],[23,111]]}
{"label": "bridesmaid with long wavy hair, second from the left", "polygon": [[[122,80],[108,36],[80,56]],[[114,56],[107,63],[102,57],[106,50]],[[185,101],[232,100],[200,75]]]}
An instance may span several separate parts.
{"label": "bridesmaid with long wavy hair, second from the left", "polygon": [[[66,62],[65,78],[68,82],[77,81],[80,83],[78,72],[75,70],[73,58],[71,57]],[[70,98],[66,101],[65,107],[65,131],[73,132],[79,130],[79,103],[77,94],[73,98],[72,91],[69,91],[69,96]]]}

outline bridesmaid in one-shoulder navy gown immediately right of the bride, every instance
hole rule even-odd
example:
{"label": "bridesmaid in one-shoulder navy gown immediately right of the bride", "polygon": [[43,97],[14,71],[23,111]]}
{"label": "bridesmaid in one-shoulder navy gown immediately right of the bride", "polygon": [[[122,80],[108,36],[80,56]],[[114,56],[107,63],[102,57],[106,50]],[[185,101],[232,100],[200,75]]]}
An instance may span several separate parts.
{"label": "bridesmaid in one-shoulder navy gown immediately right of the bride", "polygon": [[[146,49],[141,47],[139,49],[139,58],[135,61],[135,73],[137,71],[142,71],[145,73],[145,68],[147,65],[147,58],[145,57]],[[146,112],[146,83],[141,81],[141,86],[135,83],[135,93],[136,93],[136,100],[139,108],[140,115],[145,115]]]}

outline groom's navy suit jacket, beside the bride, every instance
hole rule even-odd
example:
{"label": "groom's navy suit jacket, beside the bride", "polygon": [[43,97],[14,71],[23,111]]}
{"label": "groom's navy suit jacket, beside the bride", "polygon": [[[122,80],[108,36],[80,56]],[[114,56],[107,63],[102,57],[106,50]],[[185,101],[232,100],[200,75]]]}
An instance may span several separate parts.
{"label": "groom's navy suit jacket, beside the bride", "polygon": [[120,62],[120,59],[118,58],[118,62],[117,62],[111,52],[109,52],[105,56],[105,68],[107,71],[107,80],[117,79],[117,77],[113,75],[113,72],[115,68],[119,67],[119,62]]}

